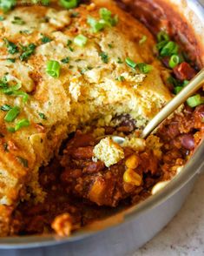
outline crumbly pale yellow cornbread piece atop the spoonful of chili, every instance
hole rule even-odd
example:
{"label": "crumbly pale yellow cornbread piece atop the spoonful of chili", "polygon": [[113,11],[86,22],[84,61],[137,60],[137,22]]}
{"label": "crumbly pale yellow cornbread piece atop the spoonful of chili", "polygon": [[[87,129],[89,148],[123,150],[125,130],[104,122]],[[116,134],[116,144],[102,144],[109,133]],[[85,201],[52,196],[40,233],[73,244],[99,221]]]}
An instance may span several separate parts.
{"label": "crumbly pale yellow cornbread piece atop the spoonful of chili", "polygon": [[113,142],[111,138],[103,138],[99,144],[95,145],[94,155],[107,167],[115,165],[124,158],[122,147]]}

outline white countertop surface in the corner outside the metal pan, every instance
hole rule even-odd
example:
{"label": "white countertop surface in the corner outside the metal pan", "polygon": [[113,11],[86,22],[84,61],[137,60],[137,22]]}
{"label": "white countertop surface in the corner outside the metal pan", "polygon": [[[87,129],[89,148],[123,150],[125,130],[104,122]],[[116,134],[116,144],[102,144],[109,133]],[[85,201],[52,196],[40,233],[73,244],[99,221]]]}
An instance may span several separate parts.
{"label": "white countertop surface in the corner outside the metal pan", "polygon": [[[204,174],[181,211],[134,256],[204,255]],[[133,255],[131,255],[133,256]]]}

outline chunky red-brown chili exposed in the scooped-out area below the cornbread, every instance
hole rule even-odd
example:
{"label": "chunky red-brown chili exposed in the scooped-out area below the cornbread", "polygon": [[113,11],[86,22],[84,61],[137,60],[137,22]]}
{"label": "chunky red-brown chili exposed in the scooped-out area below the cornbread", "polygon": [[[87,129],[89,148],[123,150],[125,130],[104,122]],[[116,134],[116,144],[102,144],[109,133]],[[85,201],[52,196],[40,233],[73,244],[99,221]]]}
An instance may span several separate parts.
{"label": "chunky red-brown chili exposed in the scooped-out area below the cornbread", "polygon": [[[54,230],[59,235],[69,235],[77,228],[103,218],[112,207],[128,206],[146,199],[158,181],[174,177],[178,166],[184,165],[187,156],[201,143],[203,118],[204,105],[195,110],[186,107],[183,113],[167,119],[157,131],[162,144],[161,158],[155,157],[152,150],[134,152],[127,147],[124,148],[125,158],[109,168],[101,161],[92,160],[97,142],[91,132],[76,131],[64,145],[62,156],[41,169],[39,181],[47,193],[45,202],[35,205],[30,201],[18,205],[12,220],[12,234]],[[129,124],[127,122],[122,118],[122,127]],[[119,126],[105,128],[113,133]],[[133,154],[138,160],[136,175],[141,177],[140,185],[123,179],[127,171],[126,160]]]}

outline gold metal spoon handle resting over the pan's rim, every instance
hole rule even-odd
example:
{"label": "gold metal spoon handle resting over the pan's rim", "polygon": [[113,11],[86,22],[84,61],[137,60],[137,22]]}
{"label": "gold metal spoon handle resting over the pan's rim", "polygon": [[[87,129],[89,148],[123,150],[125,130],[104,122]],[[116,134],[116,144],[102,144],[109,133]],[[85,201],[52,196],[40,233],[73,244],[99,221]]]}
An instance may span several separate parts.
{"label": "gold metal spoon handle resting over the pan's rim", "polygon": [[204,68],[189,82],[183,90],[177,94],[171,101],[166,104],[158,114],[155,115],[148,125],[141,132],[141,138],[147,138],[148,135],[155,130],[155,128],[161,124],[161,122],[168,118],[181,104],[183,104],[194,92],[201,88],[204,83]]}

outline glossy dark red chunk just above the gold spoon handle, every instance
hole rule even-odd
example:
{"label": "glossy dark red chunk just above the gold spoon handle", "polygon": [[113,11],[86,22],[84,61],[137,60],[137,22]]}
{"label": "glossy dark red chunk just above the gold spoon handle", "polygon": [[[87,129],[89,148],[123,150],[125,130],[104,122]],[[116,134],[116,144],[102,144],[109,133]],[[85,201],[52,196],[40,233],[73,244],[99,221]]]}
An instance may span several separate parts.
{"label": "glossy dark red chunk just above the gold spoon handle", "polygon": [[190,80],[195,76],[194,69],[187,62],[177,65],[173,71],[175,77],[179,80]]}

